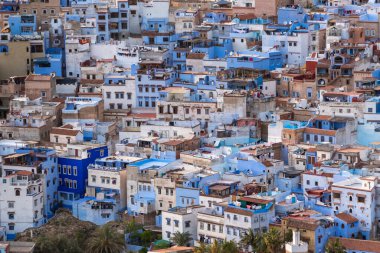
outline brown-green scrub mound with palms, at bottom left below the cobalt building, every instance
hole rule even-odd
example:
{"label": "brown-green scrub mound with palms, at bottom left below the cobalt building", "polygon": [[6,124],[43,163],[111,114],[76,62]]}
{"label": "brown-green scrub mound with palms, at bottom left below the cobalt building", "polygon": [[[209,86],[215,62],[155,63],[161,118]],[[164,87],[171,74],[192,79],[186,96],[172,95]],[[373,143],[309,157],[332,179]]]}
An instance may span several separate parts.
{"label": "brown-green scrub mound with palms, at bottom left below the cobalt building", "polygon": [[135,222],[110,222],[97,226],[78,220],[68,210],[59,209],[45,225],[17,234],[16,241],[35,242],[36,253],[119,253],[125,249],[123,232],[137,234],[137,240],[147,246],[156,237],[150,231],[143,231]]}

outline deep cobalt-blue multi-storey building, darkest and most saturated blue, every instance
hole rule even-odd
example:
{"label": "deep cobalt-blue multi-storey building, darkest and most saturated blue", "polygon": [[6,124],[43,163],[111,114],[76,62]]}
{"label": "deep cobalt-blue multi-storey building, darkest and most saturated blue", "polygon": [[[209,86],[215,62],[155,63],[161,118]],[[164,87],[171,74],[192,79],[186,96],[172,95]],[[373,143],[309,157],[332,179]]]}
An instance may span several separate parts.
{"label": "deep cobalt-blue multi-storey building, darkest and most saturated blue", "polygon": [[86,193],[88,166],[108,156],[107,146],[69,145],[66,154],[58,156],[59,201],[71,208],[74,200]]}

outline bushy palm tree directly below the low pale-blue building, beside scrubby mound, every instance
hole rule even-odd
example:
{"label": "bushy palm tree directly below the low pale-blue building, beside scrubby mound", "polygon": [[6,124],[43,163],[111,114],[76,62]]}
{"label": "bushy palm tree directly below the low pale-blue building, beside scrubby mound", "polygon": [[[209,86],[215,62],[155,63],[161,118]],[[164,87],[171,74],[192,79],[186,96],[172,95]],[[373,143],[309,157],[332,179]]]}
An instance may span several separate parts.
{"label": "bushy palm tree directly below the low pale-blue building, beside scrubby mound", "polygon": [[88,253],[121,253],[124,251],[124,236],[109,225],[104,225],[95,231],[93,238],[87,244]]}

